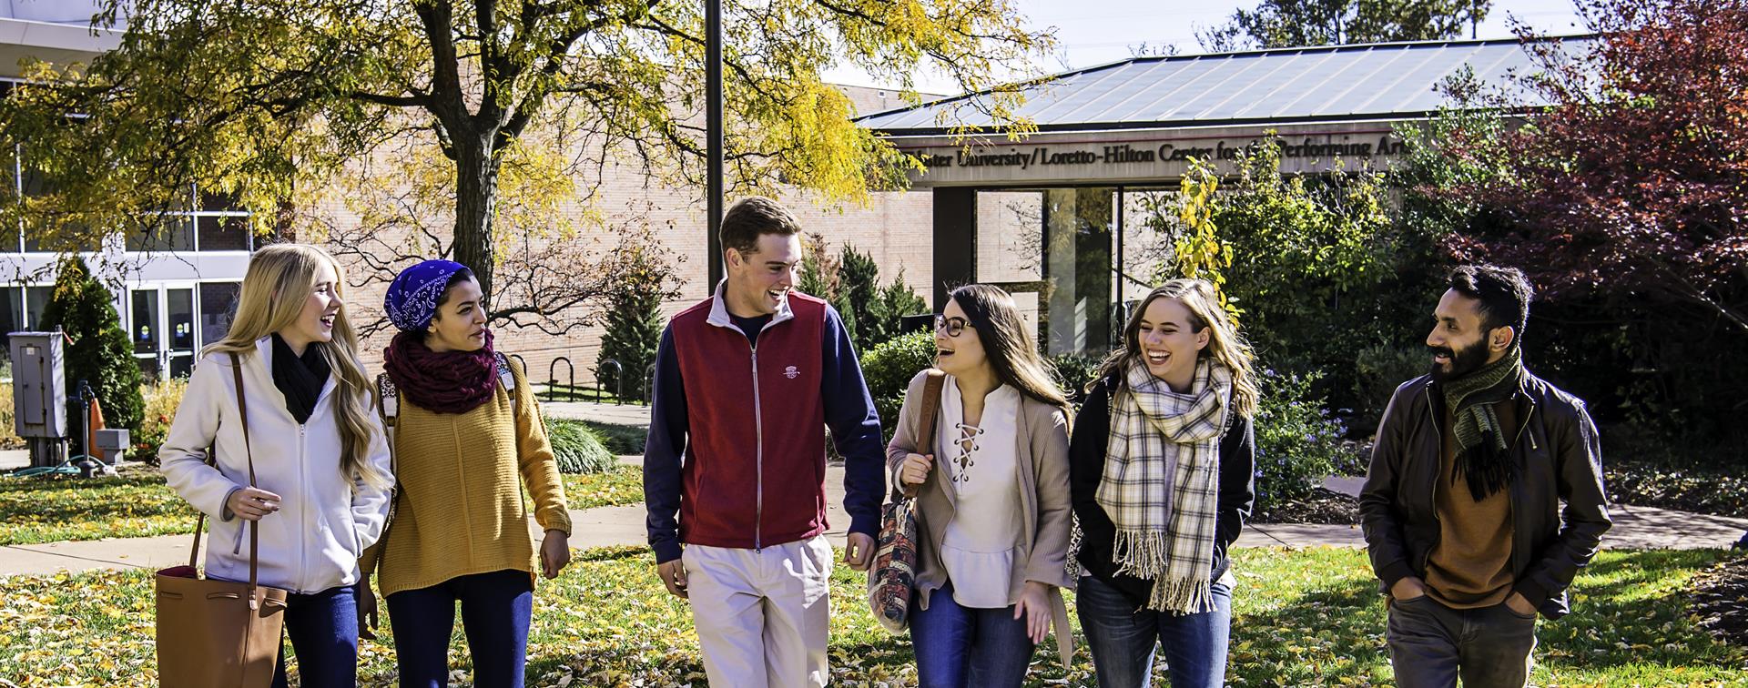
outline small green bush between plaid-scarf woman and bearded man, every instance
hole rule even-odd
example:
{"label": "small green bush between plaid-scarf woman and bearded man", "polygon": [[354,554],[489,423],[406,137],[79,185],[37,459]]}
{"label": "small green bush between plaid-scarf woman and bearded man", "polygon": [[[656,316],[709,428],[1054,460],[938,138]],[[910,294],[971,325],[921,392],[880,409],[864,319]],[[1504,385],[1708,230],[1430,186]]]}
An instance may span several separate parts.
{"label": "small green bush between plaid-scarf woman and bearded man", "polygon": [[1311,395],[1316,375],[1262,370],[1257,407],[1257,508],[1309,498],[1335,466],[1351,464],[1348,428]]}

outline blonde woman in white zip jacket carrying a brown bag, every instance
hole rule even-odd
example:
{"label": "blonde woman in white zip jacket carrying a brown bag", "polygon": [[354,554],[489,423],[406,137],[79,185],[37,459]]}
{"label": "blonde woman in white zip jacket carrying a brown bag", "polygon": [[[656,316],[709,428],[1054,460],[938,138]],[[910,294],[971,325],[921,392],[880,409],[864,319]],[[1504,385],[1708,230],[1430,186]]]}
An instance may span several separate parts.
{"label": "blonde woman in white zip jacket carrying a brown bag", "polygon": [[[304,686],[357,685],[358,554],[383,534],[393,480],[343,285],[320,248],[257,251],[231,332],[201,351],[157,452],[170,487],[213,517],[208,576],[248,580],[243,522],[259,524],[260,585],[290,592],[285,629]],[[248,447],[231,354],[243,372]],[[273,685],[287,685],[283,650]]]}

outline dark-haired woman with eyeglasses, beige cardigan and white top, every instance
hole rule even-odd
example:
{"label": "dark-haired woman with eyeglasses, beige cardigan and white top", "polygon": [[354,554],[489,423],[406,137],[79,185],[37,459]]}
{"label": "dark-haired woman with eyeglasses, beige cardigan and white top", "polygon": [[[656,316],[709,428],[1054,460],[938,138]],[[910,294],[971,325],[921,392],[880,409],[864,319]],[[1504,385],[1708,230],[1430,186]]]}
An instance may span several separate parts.
{"label": "dark-haired woman with eyeglasses, beige cardigan and white top", "polygon": [[946,372],[935,442],[918,445],[918,374],[886,447],[893,485],[914,491],[911,643],[923,686],[1019,686],[1051,634],[1070,657],[1059,588],[1068,557],[1068,400],[1052,382],[1014,297],[953,292],[935,318]]}

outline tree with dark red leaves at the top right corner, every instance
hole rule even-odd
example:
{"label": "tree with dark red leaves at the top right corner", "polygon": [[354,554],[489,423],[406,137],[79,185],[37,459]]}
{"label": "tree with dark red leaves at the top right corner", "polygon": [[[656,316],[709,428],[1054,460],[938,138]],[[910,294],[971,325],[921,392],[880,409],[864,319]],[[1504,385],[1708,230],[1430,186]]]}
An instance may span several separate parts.
{"label": "tree with dark red leaves at the top right corner", "polygon": [[1547,108],[1442,143],[1505,171],[1437,190],[1498,220],[1449,248],[1519,265],[1556,300],[1634,299],[1748,335],[1748,0],[1580,10],[1587,47],[1526,44],[1540,73],[1521,86]]}

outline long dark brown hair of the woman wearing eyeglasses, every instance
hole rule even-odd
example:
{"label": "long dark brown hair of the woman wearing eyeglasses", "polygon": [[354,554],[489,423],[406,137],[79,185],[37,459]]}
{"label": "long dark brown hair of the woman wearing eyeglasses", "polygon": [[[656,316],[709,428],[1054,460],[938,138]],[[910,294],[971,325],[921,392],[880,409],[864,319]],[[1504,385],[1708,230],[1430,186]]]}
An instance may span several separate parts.
{"label": "long dark brown hair of the woman wearing eyeglasses", "polygon": [[1038,344],[1019,318],[1014,297],[1000,286],[965,285],[951,299],[965,311],[965,321],[977,330],[995,377],[1021,395],[1070,412],[1068,396],[1056,386],[1049,365],[1038,356]]}

